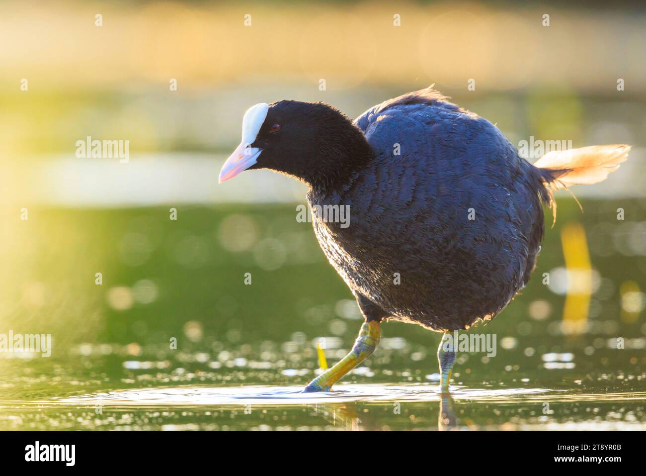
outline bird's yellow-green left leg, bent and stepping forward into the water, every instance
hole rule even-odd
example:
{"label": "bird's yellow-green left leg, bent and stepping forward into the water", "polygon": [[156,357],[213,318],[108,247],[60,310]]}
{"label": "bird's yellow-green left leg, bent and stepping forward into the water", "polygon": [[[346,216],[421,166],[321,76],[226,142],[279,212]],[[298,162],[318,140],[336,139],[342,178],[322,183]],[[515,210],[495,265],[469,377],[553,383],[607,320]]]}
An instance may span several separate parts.
{"label": "bird's yellow-green left leg, bent and stepping forward into the water", "polygon": [[363,362],[377,349],[380,335],[379,321],[364,322],[359,331],[359,337],[355,340],[355,345],[352,346],[350,353],[337,362],[334,367],[309,382],[309,385],[303,391],[329,392],[337,380],[357,367],[359,363]]}

